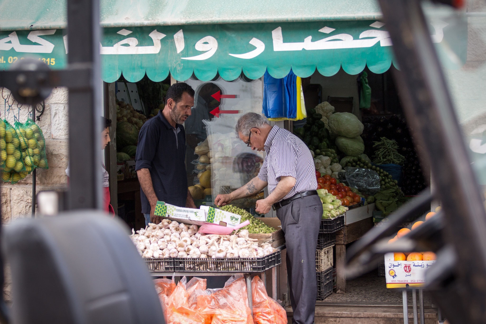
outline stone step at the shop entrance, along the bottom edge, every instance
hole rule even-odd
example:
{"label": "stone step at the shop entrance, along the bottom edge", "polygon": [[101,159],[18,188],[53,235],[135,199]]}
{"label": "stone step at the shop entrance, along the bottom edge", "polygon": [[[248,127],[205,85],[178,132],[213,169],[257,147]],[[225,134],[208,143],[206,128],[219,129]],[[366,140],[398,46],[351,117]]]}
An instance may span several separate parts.
{"label": "stone step at the shop entrance, along the bottom edge", "polygon": [[[287,307],[288,323],[292,324],[292,308]],[[424,308],[425,324],[437,324],[437,309]],[[413,324],[413,309],[408,309],[408,323]],[[399,324],[403,323],[401,307],[316,306],[315,324]],[[420,323],[420,315],[418,315]]]}

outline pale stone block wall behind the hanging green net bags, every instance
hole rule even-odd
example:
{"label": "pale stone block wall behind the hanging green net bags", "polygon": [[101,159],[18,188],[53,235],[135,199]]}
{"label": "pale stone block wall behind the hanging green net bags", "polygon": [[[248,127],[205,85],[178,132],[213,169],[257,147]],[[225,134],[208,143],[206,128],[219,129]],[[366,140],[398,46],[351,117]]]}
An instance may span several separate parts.
{"label": "pale stone block wall behind the hanging green net bags", "polygon": [[[7,119],[14,124],[14,114],[21,122],[25,122],[31,110],[28,106],[17,108],[10,92],[0,88],[5,109],[1,109],[1,119]],[[0,102],[1,103],[1,102]],[[6,111],[13,105],[10,111]],[[36,113],[38,116],[39,113]],[[46,139],[46,155],[49,170],[37,169],[36,192],[42,190],[59,190],[67,187],[66,168],[68,166],[68,90],[64,87],[54,88],[51,96],[45,101],[45,110],[40,120],[35,120],[42,129]],[[2,222],[9,222],[18,217],[30,216],[32,210],[32,174],[15,185],[1,183],[1,215]]]}

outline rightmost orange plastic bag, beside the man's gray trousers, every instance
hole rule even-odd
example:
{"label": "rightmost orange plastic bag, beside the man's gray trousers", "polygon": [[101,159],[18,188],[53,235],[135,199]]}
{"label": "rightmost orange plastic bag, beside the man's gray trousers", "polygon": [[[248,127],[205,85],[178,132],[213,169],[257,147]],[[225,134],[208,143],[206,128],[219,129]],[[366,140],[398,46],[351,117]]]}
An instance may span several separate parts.
{"label": "rightmost orange plastic bag, beside the man's gray trousers", "polygon": [[287,324],[285,309],[268,296],[265,285],[258,275],[251,281],[251,292],[255,324]]}

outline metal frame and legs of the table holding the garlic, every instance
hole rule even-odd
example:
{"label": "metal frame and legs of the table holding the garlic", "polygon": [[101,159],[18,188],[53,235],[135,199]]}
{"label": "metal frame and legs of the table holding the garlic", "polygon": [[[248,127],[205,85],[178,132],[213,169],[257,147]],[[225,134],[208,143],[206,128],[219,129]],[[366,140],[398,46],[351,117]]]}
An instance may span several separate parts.
{"label": "metal frame and legs of the table holding the garlic", "polygon": [[[280,256],[280,251],[285,249],[285,244],[280,245],[276,247],[278,251],[278,256]],[[196,259],[194,259],[196,260]],[[280,260],[280,257],[278,258]],[[251,315],[253,316],[253,302],[252,302],[252,290],[251,290],[251,274],[253,273],[260,273],[261,274],[261,279],[263,283],[265,284],[266,287],[266,272],[271,270],[272,271],[272,298],[274,300],[277,300],[277,266],[280,264],[280,261],[275,262],[268,268],[266,268],[262,272],[254,272],[254,271],[247,271],[247,272],[242,272],[242,271],[235,271],[235,272],[198,272],[198,271],[183,271],[183,272],[162,272],[162,271],[150,271],[150,274],[153,277],[161,277],[161,276],[228,276],[228,275],[234,275],[237,273],[243,273],[243,276],[245,278],[246,282],[246,292],[248,294],[248,306],[251,309]]]}

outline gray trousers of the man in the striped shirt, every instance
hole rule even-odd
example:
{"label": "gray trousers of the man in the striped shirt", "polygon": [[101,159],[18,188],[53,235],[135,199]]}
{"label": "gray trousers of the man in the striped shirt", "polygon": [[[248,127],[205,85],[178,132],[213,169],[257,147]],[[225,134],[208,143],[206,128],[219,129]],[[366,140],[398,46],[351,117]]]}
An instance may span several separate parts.
{"label": "gray trousers of the man in the striped shirt", "polygon": [[287,246],[287,275],[290,284],[290,302],[294,311],[293,324],[314,322],[317,278],[315,249],[322,218],[319,196],[293,200],[277,209]]}

